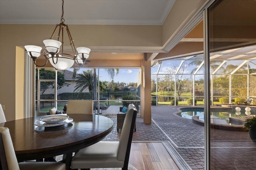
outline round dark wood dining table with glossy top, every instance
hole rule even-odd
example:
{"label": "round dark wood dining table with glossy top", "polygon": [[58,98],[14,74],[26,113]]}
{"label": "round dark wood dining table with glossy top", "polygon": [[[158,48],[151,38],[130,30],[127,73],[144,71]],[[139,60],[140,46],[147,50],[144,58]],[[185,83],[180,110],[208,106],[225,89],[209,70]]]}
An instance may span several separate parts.
{"label": "round dark wood dining table with glossy top", "polygon": [[[104,139],[113,129],[112,119],[95,114],[70,114],[64,125],[49,125],[38,116],[0,123],[8,127],[17,160],[40,160],[63,156],[66,170],[70,169],[72,154]],[[68,120],[68,121],[67,121]]]}

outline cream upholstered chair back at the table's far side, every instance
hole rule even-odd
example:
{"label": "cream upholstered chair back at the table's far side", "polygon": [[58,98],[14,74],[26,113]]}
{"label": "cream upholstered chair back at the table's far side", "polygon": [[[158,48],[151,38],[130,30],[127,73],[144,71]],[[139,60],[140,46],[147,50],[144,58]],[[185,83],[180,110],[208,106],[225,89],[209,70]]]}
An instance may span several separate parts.
{"label": "cream upholstered chair back at the table's far side", "polygon": [[93,100],[68,100],[67,114],[93,114]]}

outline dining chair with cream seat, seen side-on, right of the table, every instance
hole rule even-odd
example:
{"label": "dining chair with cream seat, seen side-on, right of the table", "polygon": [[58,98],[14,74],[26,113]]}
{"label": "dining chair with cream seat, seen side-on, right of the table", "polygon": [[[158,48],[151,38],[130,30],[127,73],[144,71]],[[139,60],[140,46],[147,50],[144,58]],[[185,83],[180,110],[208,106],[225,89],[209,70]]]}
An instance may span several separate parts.
{"label": "dining chair with cream seat, seen side-on, right of the table", "polygon": [[81,170],[122,168],[122,170],[127,170],[136,115],[136,107],[130,104],[124,119],[120,140],[100,141],[80,149],[71,161],[71,168]]}

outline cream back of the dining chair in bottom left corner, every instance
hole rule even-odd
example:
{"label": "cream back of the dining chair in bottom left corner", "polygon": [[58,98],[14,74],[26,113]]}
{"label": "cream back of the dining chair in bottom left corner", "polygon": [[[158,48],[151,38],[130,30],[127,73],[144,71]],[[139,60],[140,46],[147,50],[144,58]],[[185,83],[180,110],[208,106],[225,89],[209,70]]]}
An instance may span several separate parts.
{"label": "cream back of the dining chair in bottom left corner", "polygon": [[2,170],[19,170],[18,160],[7,127],[0,127],[0,160]]}

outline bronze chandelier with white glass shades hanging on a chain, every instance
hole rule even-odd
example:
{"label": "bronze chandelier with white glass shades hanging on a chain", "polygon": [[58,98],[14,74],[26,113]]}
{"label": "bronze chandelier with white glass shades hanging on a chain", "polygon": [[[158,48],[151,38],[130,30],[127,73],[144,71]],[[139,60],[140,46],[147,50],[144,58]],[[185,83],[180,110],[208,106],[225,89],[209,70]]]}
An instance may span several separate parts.
{"label": "bronze chandelier with white glass shades hanging on a chain", "polygon": [[[74,40],[71,37],[70,31],[68,29],[68,25],[64,24],[64,10],[63,10],[64,0],[62,0],[62,16],[60,19],[60,23],[56,25],[52,36],[50,39],[46,39],[43,41],[45,45],[45,49],[43,53],[41,53],[42,47],[36,45],[26,45],[24,46],[27,54],[33,59],[33,62],[36,66],[45,66],[47,61],[49,60],[52,66],[59,70],[66,70],[72,66],[82,67],[87,62],[90,62],[88,59],[89,53],[91,49],[87,47],[78,47],[76,48],[74,45]],[[64,29],[66,29],[68,39],[70,41],[70,46],[72,49],[72,54],[64,53],[63,45],[64,45]],[[52,39],[54,34],[58,30],[57,40]],[[62,47],[61,47],[62,45]],[[36,60],[40,55],[45,57],[45,62],[42,65],[36,64]]]}

